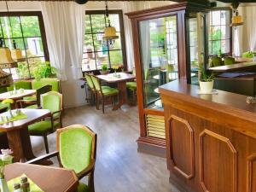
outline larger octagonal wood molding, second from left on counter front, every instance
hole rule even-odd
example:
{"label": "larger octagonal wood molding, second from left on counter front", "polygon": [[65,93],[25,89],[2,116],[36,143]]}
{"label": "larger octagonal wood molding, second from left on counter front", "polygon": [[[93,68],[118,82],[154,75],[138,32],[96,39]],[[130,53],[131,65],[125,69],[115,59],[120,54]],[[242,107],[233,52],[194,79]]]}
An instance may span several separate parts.
{"label": "larger octagonal wood molding, second from left on counter front", "polygon": [[203,137],[205,136],[210,136],[218,139],[219,141],[226,143],[227,146],[230,148],[230,151],[233,155],[233,192],[237,192],[237,151],[236,148],[234,148],[233,144],[230,142],[230,139],[227,137],[223,137],[221,135],[218,135],[215,132],[209,131],[209,130],[204,130],[201,132],[199,135],[199,143],[200,143],[200,182],[201,182],[201,187],[205,192],[209,192],[210,190],[207,189],[206,184],[204,183],[204,164],[203,164]]}

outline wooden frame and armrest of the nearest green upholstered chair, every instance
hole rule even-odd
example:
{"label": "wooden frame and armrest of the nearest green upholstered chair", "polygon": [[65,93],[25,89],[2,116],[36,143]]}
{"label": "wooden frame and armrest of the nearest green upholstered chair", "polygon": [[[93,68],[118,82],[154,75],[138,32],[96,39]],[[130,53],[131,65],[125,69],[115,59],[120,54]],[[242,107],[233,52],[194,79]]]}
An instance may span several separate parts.
{"label": "wooden frame and armrest of the nearest green upholstered chair", "polygon": [[68,131],[68,130],[71,130],[71,129],[74,129],[74,128],[81,128],[83,129],[84,131],[86,131],[87,133],[90,134],[90,136],[92,137],[92,146],[91,146],[91,155],[90,155],[90,165],[87,166],[82,172],[79,172],[77,174],[77,176],[79,177],[79,179],[85,177],[85,176],[88,176],[88,187],[90,189],[90,192],[94,192],[95,191],[95,188],[94,188],[94,171],[95,171],[95,163],[96,163],[96,143],[97,143],[97,135],[94,131],[91,131],[89,127],[87,126],[84,126],[84,125],[70,125],[70,126],[67,126],[65,128],[62,128],[62,129],[58,129],[57,130],[57,150],[53,153],[50,153],[50,154],[45,154],[41,157],[38,157],[34,160],[30,160],[30,161],[27,161],[26,163],[27,164],[39,164],[42,162],[42,160],[48,160],[49,158],[52,158],[52,157],[57,157],[58,158],[58,161],[59,161],[59,165],[61,167],[62,164],[61,164],[61,158],[60,158],[60,135],[61,135],[61,132],[64,132],[64,131]]}

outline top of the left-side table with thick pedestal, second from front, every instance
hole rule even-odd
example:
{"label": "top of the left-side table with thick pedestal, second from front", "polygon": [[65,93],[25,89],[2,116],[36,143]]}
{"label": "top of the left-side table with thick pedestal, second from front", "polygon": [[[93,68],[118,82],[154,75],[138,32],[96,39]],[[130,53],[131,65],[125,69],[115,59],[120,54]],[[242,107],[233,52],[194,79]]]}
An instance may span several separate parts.
{"label": "top of the left-side table with thick pedestal, second from front", "polygon": [[[37,122],[40,119],[49,117],[50,111],[48,109],[31,109],[31,108],[22,108],[22,113],[25,113],[27,119],[15,120],[13,122],[5,123],[0,125],[0,131],[13,131],[16,129],[22,129],[26,125],[31,125],[32,123]],[[7,115],[9,112],[2,113],[1,115]]]}

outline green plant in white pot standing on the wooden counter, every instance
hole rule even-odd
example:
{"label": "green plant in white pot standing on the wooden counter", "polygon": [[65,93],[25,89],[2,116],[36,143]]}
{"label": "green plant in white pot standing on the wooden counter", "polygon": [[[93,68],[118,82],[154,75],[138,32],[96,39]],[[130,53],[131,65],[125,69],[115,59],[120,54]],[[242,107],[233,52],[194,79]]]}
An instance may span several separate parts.
{"label": "green plant in white pot standing on the wooden counter", "polygon": [[212,73],[207,73],[204,67],[201,65],[199,67],[199,85],[201,93],[212,93],[214,84],[214,75]]}

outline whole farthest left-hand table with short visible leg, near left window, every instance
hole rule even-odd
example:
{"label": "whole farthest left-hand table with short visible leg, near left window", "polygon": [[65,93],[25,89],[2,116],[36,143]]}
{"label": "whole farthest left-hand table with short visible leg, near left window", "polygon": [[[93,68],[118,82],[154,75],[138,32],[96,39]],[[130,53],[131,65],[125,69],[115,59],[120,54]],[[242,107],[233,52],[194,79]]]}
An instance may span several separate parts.
{"label": "whole farthest left-hand table with short visible leg, near left window", "polygon": [[33,96],[37,93],[37,90],[10,90],[8,92],[4,92],[0,94],[0,101],[3,101],[5,99],[12,99],[14,100],[14,107],[13,108],[18,108],[17,106],[17,101],[22,99],[23,97],[26,96]]}

